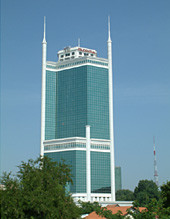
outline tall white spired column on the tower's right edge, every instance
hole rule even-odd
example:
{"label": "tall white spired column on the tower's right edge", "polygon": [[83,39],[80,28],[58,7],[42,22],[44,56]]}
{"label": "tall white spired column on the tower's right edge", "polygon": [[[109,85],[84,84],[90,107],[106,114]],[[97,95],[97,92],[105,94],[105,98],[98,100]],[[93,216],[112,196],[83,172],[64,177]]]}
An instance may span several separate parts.
{"label": "tall white spired column on the tower's right edge", "polygon": [[110,38],[110,19],[108,22],[108,70],[109,70],[109,122],[110,122],[110,170],[111,201],[115,201],[115,162],[114,162],[114,130],[113,130],[113,78],[112,78],[112,41]]}

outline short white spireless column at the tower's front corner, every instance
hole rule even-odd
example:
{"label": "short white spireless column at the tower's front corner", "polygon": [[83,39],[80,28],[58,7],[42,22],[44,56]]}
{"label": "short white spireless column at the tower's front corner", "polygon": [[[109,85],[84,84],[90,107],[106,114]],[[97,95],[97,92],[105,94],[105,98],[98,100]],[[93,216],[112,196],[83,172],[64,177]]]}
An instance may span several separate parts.
{"label": "short white spireless column at the tower's front corner", "polygon": [[87,201],[91,201],[91,162],[90,162],[90,126],[86,125],[86,192]]}

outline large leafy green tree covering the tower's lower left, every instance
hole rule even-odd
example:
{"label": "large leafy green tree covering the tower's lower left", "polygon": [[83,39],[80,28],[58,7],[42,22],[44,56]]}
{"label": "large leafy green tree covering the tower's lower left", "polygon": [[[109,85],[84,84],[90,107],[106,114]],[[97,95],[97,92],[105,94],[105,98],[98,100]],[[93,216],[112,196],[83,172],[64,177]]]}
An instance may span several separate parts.
{"label": "large leafy green tree covering the tower's lower left", "polygon": [[22,162],[16,176],[4,174],[0,190],[2,218],[77,218],[79,208],[66,192],[70,168],[48,157]]}

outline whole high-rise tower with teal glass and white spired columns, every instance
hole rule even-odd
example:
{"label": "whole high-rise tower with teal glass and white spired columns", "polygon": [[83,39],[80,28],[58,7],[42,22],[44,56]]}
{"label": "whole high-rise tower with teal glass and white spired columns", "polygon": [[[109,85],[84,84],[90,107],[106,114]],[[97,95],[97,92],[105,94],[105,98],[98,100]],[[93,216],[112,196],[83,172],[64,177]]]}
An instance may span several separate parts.
{"label": "whole high-rise tower with teal glass and white spired columns", "polygon": [[[71,165],[75,200],[115,201],[112,42],[108,59],[66,47],[46,60],[42,42],[41,155]],[[111,192],[103,188],[111,187]],[[100,193],[99,193],[100,191]]]}

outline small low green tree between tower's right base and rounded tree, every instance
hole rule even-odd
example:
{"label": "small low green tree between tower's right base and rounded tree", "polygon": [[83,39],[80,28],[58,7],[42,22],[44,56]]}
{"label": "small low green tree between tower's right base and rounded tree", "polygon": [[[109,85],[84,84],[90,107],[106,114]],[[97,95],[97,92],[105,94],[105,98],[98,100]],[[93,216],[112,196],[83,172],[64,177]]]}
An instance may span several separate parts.
{"label": "small low green tree between tower's right base and rounded tree", "polygon": [[116,192],[116,201],[133,201],[134,194],[128,189],[121,189]]}

